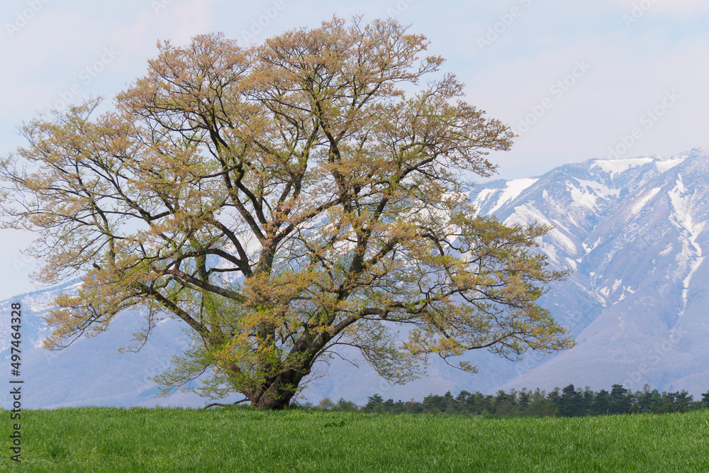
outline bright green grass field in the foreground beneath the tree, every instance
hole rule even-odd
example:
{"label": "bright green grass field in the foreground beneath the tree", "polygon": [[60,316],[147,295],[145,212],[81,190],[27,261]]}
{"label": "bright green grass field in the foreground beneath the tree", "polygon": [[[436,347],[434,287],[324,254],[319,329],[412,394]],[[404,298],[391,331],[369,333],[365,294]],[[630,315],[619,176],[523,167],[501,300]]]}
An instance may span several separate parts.
{"label": "bright green grass field in the foreground beneath the tree", "polygon": [[23,411],[18,472],[709,472],[709,411],[586,418]]}

